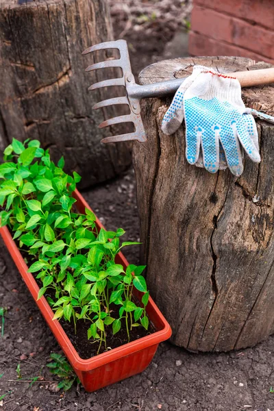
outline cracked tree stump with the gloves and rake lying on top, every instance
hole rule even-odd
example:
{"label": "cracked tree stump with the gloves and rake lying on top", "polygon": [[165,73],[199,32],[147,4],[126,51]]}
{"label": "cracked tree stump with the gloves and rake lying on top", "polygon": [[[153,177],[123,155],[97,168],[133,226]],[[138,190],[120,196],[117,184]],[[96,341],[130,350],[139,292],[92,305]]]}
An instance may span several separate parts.
{"label": "cracked tree stump with the gloves and rake lying on top", "polygon": [[[194,64],[220,72],[270,64],[247,58],[179,58],[140,73],[150,84],[185,77]],[[274,86],[245,88],[247,106],[274,115]],[[161,132],[171,97],[142,101],[147,142],[134,143],[140,241],[151,295],[171,341],[191,351],[228,351],[274,332],[274,126],[257,121],[262,162],[211,175],[185,157],[184,126]]]}

